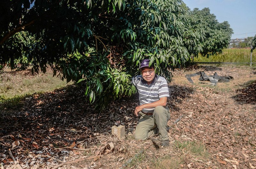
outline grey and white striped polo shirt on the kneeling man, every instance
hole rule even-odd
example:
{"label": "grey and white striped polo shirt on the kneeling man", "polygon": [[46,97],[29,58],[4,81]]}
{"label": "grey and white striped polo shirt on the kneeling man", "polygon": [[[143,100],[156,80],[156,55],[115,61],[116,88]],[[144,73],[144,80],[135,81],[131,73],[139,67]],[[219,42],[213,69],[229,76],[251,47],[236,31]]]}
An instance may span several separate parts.
{"label": "grey and white striped polo shirt on the kneeling man", "polygon": [[[132,77],[132,83],[138,90],[140,105],[153,103],[162,97],[170,97],[167,81],[164,77],[156,75],[153,82],[148,85],[141,75]],[[155,108],[144,108],[145,113],[154,112]]]}

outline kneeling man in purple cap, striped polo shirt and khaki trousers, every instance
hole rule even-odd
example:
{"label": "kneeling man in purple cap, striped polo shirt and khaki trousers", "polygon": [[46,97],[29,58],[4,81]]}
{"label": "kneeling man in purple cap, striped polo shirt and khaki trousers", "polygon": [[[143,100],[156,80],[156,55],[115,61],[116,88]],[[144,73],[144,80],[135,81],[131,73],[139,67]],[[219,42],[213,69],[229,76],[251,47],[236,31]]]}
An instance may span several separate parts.
{"label": "kneeling man in purple cap, striped polo shirt and khaki trousers", "polygon": [[141,115],[135,129],[135,139],[148,139],[156,134],[158,127],[161,145],[168,146],[167,122],[170,120],[170,113],[166,105],[170,95],[167,81],[155,74],[154,66],[149,67],[149,59],[141,62],[140,71],[141,75],[132,77],[132,83],[136,86],[140,98],[140,106],[135,108],[134,114]]}

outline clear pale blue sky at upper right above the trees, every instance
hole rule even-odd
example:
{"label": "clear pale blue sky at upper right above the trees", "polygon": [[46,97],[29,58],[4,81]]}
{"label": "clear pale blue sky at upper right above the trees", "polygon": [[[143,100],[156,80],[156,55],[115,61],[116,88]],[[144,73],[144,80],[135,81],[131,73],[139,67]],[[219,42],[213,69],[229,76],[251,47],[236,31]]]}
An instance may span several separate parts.
{"label": "clear pale blue sky at upper right above the trees", "polygon": [[208,7],[219,22],[228,21],[234,32],[232,39],[256,34],[256,0],[183,0],[183,2],[191,10]]}

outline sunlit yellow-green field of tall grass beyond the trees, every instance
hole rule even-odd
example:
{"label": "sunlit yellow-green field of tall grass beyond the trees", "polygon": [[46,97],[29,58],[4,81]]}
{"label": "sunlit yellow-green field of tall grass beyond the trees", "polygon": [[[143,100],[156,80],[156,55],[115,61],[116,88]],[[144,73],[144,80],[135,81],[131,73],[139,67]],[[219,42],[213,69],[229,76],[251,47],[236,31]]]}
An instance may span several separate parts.
{"label": "sunlit yellow-green field of tall grass beyond the trees", "polygon": [[[222,54],[210,56],[209,58],[198,56],[195,62],[250,62],[250,48],[224,49]],[[252,52],[252,62],[256,62],[256,50]]]}

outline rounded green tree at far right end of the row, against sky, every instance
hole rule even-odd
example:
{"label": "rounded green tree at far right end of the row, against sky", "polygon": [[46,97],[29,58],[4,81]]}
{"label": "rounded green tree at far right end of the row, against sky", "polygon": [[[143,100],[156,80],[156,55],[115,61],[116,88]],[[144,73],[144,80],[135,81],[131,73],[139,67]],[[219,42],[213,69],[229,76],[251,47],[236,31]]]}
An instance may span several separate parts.
{"label": "rounded green tree at far right end of the row, against sky", "polygon": [[216,55],[228,46],[233,30],[227,21],[219,23],[209,8],[188,9],[187,18],[183,39],[192,57]]}

